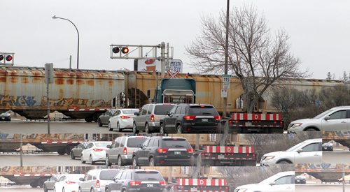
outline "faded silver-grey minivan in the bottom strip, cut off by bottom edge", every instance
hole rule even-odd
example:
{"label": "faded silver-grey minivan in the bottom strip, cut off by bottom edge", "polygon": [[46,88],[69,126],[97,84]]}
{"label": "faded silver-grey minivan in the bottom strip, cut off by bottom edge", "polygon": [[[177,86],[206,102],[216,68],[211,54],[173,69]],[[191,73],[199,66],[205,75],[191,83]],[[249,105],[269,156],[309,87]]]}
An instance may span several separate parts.
{"label": "faded silver-grey minivan in the bottom strip, cut off by bottom edge", "polygon": [[104,192],[104,187],[120,172],[118,169],[89,170],[84,178],[80,178],[79,192]]}

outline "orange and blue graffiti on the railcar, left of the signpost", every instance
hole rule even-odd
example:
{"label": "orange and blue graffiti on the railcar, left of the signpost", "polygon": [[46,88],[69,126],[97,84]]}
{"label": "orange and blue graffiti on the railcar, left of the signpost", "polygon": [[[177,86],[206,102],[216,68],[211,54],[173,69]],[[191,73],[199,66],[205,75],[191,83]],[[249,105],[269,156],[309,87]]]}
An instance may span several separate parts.
{"label": "orange and blue graffiti on the railcar, left of the signpost", "polygon": [[34,106],[36,101],[34,96],[11,96],[0,94],[0,106]]}

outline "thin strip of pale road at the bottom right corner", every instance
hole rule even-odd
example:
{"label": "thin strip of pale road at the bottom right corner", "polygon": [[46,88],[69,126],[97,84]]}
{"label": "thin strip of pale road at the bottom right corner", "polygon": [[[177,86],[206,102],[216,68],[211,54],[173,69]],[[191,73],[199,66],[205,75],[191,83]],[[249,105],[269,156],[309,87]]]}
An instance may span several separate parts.
{"label": "thin strip of pale road at the bottom right corner", "polygon": [[[297,184],[295,192],[342,192],[341,184]],[[350,184],[345,185],[345,191],[350,192]]]}

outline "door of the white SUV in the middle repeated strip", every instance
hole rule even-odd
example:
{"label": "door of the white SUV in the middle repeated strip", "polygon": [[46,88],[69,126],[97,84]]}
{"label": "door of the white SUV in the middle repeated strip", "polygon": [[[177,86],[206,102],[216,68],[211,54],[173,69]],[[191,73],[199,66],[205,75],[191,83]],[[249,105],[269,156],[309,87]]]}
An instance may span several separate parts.
{"label": "door of the white SUV in the middle repeated strip", "polygon": [[302,152],[295,152],[294,163],[321,163],[322,143],[312,142],[302,147]]}

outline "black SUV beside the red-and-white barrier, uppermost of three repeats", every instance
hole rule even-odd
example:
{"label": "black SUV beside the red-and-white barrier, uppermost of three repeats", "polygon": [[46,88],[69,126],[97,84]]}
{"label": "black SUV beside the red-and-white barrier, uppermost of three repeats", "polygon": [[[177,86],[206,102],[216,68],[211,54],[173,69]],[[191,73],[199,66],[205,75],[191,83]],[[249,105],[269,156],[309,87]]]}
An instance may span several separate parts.
{"label": "black SUV beside the red-and-white barrier, uppermost of three repeats", "polygon": [[213,105],[178,104],[160,119],[160,133],[220,133],[220,119]]}

